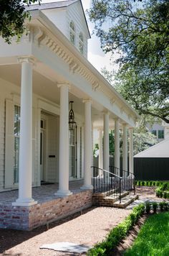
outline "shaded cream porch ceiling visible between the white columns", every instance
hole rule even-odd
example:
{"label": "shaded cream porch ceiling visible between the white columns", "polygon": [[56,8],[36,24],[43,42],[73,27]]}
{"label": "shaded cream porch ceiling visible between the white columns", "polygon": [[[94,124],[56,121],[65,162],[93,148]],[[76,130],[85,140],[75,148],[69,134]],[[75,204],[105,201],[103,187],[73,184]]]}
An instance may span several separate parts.
{"label": "shaded cream porch ceiling visible between the white columns", "polygon": [[[16,86],[21,85],[21,65],[12,64],[12,65],[1,65],[0,68],[0,78],[8,81],[9,83],[13,83]],[[38,96],[47,99],[48,101],[52,101],[54,104],[59,105],[59,88],[57,87],[57,83],[62,82],[63,79],[56,76],[52,70],[44,67],[41,63],[38,63],[37,66],[34,67],[33,70],[33,92]],[[82,103],[82,99],[86,99],[86,95],[79,91],[74,86],[71,86],[71,92],[69,93],[69,101],[74,101],[73,109],[74,113],[84,116],[84,104]],[[103,113],[105,109],[101,104],[97,102],[92,102],[92,122],[94,127],[102,127],[103,125]],[[115,117],[112,116],[111,117]],[[110,124],[113,126],[112,124]]]}

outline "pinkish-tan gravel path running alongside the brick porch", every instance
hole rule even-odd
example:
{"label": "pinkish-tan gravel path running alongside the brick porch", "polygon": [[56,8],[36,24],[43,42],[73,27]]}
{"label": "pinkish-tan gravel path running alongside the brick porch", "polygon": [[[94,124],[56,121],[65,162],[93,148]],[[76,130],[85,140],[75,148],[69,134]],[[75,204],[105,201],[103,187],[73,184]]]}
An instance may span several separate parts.
{"label": "pinkish-tan gravel path running alongside the brick porch", "polygon": [[[71,255],[65,252],[39,249],[42,244],[52,244],[54,242],[73,242],[92,246],[96,242],[102,241],[106,234],[130,214],[130,210],[115,208],[91,208],[85,214],[69,219],[61,224],[51,224],[46,232],[43,228],[35,229],[32,232],[4,230],[4,237],[1,237],[1,255]],[[38,234],[39,233],[39,234]],[[16,242],[8,247],[9,240]],[[20,239],[20,240],[19,240]],[[8,243],[5,243],[8,240]],[[4,242],[4,246],[3,246]],[[11,241],[12,242],[12,241]]]}

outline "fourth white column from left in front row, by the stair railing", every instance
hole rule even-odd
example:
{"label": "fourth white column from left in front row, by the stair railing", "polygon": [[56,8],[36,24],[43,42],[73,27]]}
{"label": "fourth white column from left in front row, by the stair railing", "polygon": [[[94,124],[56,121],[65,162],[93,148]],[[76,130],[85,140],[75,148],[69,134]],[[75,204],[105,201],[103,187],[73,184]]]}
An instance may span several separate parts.
{"label": "fourth white column from left in front row, by the stair railing", "polygon": [[[109,171],[109,113],[104,114],[103,169]],[[105,181],[109,175],[105,175]]]}

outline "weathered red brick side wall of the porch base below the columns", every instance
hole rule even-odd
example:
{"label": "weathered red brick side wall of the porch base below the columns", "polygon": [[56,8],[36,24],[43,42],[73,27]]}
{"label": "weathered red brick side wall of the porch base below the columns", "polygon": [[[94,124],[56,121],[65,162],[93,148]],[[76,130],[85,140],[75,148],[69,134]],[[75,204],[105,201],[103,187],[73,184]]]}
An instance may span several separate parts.
{"label": "weathered red brick side wall of the porch base below the columns", "polygon": [[92,206],[92,191],[81,191],[34,206],[0,207],[0,228],[32,230]]}

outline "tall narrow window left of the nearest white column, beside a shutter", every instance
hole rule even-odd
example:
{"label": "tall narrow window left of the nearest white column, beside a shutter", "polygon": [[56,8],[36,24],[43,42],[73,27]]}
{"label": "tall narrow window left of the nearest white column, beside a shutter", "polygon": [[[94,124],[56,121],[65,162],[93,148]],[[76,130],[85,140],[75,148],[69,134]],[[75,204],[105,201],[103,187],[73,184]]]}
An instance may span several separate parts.
{"label": "tall narrow window left of the nearest white column, beside a shutter", "polygon": [[14,106],[14,183],[19,182],[20,106]]}

